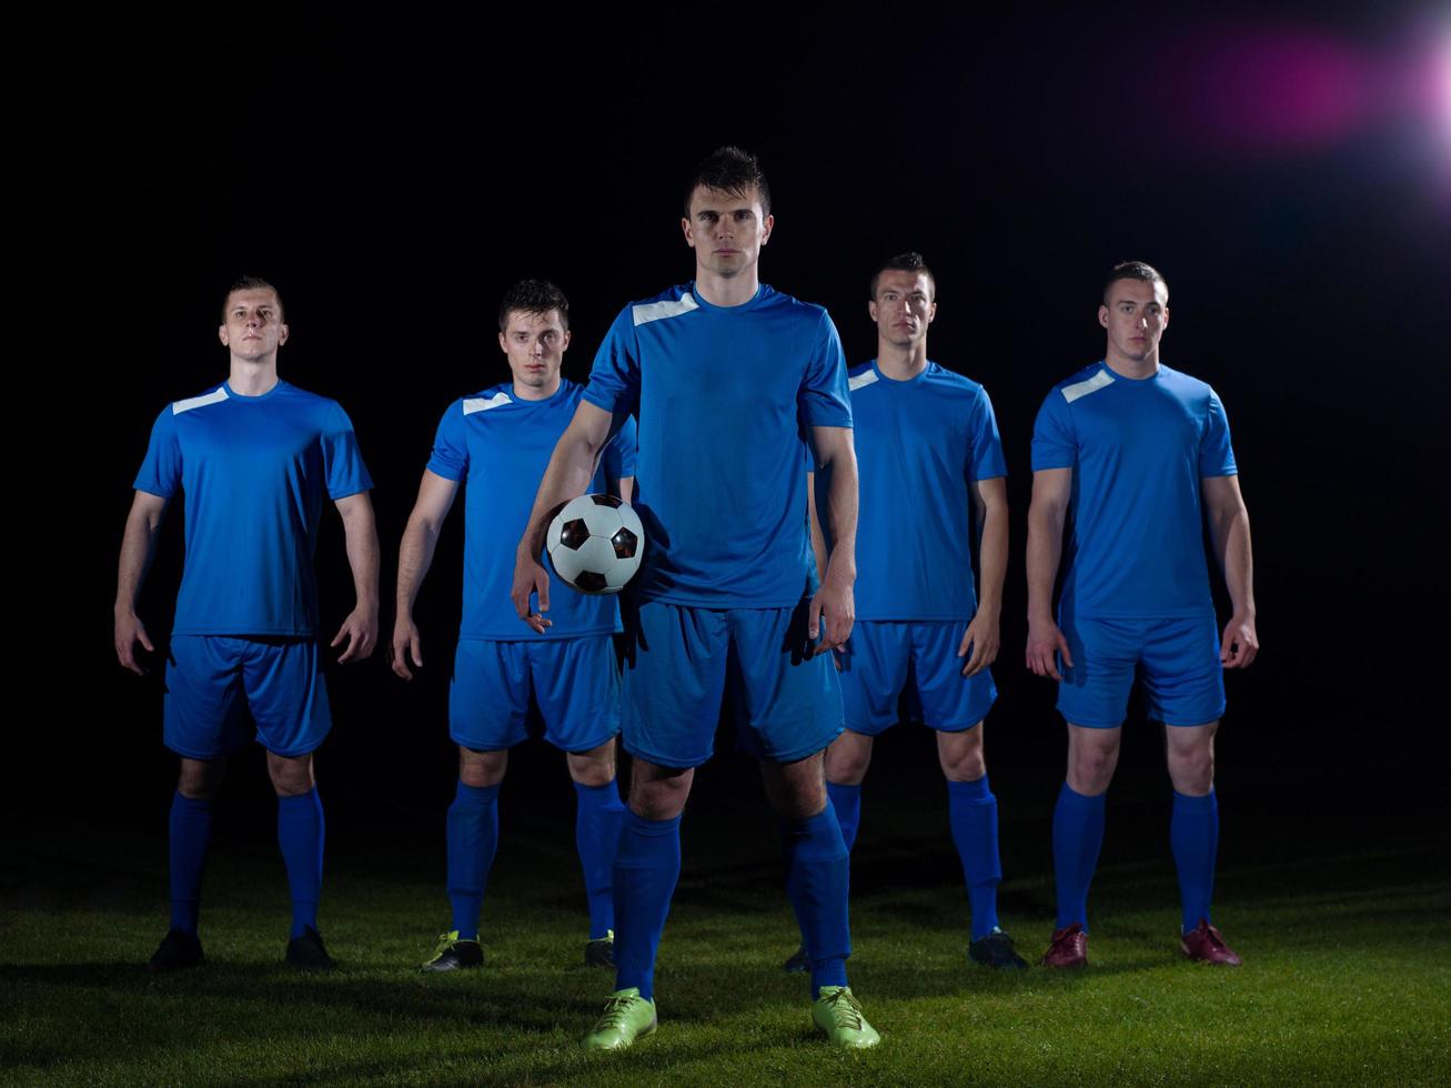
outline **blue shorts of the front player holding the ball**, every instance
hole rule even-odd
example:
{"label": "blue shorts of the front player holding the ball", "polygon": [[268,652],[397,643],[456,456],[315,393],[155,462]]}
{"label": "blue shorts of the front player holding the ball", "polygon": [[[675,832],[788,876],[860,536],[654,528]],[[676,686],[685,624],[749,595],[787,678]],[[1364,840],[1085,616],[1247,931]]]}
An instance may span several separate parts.
{"label": "blue shorts of the front player holding the ball", "polygon": [[842,733],[831,656],[811,657],[810,601],[795,608],[625,609],[624,746],[662,767],[698,767],[714,751],[730,683],[740,747],[772,763],[821,751]]}

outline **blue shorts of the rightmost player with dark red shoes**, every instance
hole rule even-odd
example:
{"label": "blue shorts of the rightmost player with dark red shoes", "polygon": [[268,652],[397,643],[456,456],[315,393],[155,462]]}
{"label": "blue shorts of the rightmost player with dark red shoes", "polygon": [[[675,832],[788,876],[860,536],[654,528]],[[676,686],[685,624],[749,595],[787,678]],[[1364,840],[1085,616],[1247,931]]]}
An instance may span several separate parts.
{"label": "blue shorts of the rightmost player with dark red shoes", "polygon": [[1214,617],[1074,619],[1062,631],[1074,667],[1059,662],[1058,711],[1069,724],[1122,725],[1135,670],[1152,721],[1207,725],[1223,717],[1225,667]]}

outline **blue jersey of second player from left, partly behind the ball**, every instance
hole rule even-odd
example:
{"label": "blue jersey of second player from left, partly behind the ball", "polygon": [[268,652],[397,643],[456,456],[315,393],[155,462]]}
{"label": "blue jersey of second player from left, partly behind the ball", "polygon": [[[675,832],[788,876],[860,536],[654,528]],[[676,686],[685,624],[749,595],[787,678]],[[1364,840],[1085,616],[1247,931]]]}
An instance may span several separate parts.
{"label": "blue jersey of second player from left, partly behind the ball", "polygon": [[[575,418],[582,392],[582,386],[564,379],[554,396],[524,400],[514,395],[514,383],[505,382],[454,400],[438,424],[428,470],[464,482],[460,638],[575,638],[621,630],[614,596],[556,586],[548,611],[553,627],[543,635],[525,630],[509,601],[514,547],[524,535],[550,454]],[[627,419],[605,445],[591,492],[604,492],[607,477],[634,476],[634,460],[636,426]]]}

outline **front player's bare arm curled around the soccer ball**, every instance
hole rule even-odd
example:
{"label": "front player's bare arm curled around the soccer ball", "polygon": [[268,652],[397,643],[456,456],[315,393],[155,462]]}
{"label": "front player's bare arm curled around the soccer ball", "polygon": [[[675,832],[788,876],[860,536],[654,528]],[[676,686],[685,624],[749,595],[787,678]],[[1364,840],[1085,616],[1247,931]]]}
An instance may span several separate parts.
{"label": "front player's bare arm curled around the soccer ball", "polygon": [[[551,621],[544,618],[544,612],[548,612],[548,572],[538,560],[544,550],[548,519],[563,503],[589,490],[595,466],[599,463],[599,451],[605,448],[605,442],[620,431],[622,424],[624,416],[615,419],[605,409],[580,400],[579,408],[575,409],[575,418],[569,421],[564,434],[554,444],[544,479],[540,480],[538,493],[534,496],[534,509],[530,511],[528,524],[524,527],[524,535],[519,538],[519,547],[514,557],[514,589],[509,593],[519,619],[540,634],[551,627]],[[538,593],[538,612],[530,611],[530,595],[533,593]]]}

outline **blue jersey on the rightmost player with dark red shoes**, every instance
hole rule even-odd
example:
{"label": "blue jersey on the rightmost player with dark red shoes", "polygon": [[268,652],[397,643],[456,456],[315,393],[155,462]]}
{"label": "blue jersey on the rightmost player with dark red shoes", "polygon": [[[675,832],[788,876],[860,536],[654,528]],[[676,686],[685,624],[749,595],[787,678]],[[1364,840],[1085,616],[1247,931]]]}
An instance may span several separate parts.
{"label": "blue jersey on the rightmost player with dark red shoes", "polygon": [[1064,618],[1213,615],[1200,480],[1238,473],[1213,389],[1162,364],[1133,380],[1094,363],[1039,409],[1042,469],[1074,470]]}

